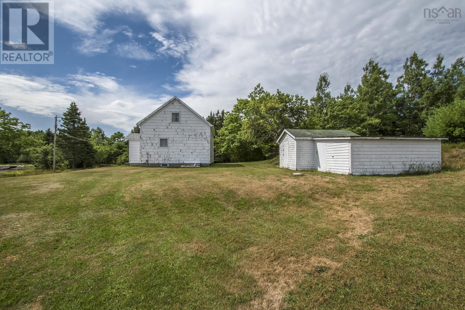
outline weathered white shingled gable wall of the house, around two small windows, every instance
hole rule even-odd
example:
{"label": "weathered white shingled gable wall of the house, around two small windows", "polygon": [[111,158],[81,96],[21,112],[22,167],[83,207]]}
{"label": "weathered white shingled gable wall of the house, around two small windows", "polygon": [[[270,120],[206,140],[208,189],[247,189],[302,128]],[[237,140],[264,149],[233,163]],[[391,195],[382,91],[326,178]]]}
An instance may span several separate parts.
{"label": "weathered white shingled gable wall of the house, around two small windows", "polygon": [[[179,112],[180,121],[172,122],[171,113]],[[168,147],[160,147],[160,138]],[[140,163],[200,162],[210,164],[213,157],[210,126],[177,100],[140,125]]]}

